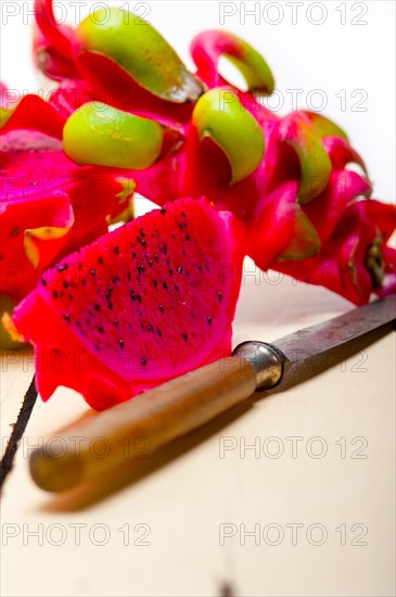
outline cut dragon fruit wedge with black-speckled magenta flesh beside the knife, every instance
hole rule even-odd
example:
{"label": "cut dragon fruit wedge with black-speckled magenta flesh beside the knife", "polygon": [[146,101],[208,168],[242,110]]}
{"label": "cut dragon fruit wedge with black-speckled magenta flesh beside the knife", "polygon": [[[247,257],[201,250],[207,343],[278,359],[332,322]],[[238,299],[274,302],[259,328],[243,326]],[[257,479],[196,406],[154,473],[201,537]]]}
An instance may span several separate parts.
{"label": "cut dragon fruit wedge with black-speckled magenta flesh beside the knife", "polygon": [[178,200],[47,270],[13,316],[42,398],[66,385],[100,410],[230,354],[241,234],[206,200]]}

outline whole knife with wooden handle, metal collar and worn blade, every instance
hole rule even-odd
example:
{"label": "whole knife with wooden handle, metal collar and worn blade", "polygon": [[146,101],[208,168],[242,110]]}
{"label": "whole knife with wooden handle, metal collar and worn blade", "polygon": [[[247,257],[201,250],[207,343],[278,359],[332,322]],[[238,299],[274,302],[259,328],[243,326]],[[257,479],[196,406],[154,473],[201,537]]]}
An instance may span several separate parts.
{"label": "whole knife with wooden handle, metal collar and worn blade", "polygon": [[[210,421],[251,396],[292,377],[293,368],[325,355],[396,318],[395,295],[276,342],[239,344],[232,356],[201,367],[56,434],[29,461],[36,484],[63,492],[132,460],[137,447],[150,453]],[[100,454],[98,446],[101,443]],[[59,450],[54,448],[59,446]],[[130,449],[133,448],[135,449]]]}

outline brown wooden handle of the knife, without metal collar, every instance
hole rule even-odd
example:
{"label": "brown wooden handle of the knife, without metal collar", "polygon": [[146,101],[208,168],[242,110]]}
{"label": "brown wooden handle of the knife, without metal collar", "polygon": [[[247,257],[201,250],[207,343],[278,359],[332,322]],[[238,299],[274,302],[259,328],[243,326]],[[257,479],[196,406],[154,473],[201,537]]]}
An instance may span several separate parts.
{"label": "brown wooden handle of the knife, without metal collar", "polygon": [[206,365],[69,428],[60,442],[48,441],[31,454],[31,477],[47,491],[72,488],[133,459],[139,442],[151,453],[203,425],[253,394],[256,382],[256,369],[240,356]]}

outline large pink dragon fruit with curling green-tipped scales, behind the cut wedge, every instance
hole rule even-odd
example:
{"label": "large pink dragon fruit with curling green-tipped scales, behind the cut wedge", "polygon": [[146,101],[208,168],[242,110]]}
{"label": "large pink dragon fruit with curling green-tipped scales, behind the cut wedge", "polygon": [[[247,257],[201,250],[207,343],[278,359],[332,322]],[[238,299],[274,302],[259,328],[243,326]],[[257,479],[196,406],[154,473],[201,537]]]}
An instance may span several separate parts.
{"label": "large pink dragon fruit with curling green-tipped scales, behind the cut wedge", "polygon": [[[223,30],[199,34],[191,43],[194,79],[190,74],[178,79],[186,71],[171,54],[174,67],[168,75],[183,81],[176,85],[175,94],[170,79],[156,73],[135,42],[125,42],[132,31],[133,15],[114,10],[110,27],[107,23],[99,25],[98,13],[93,22],[86,20],[73,30],[55,22],[51,0],[37,0],[36,14],[41,31],[36,43],[40,66],[61,81],[54,105],[72,114],[74,127],[65,137],[72,158],[77,160],[76,148],[84,136],[81,118],[73,113],[97,98],[100,89],[112,106],[154,117],[182,136],[174,151],[162,152],[150,167],[130,170],[141,194],[158,205],[179,196],[205,195],[218,208],[230,209],[250,228],[245,252],[264,270],[295,271],[298,279],[328,285],[357,304],[368,301],[371,292],[383,294],[393,288],[395,256],[386,239],[394,215],[380,202],[366,206],[372,189],[363,161],[344,131],[323,116],[296,111],[279,117],[256,100],[253,92],[271,93],[274,80],[266,61],[248,43]],[[159,60],[158,52],[167,53],[169,47],[152,28],[144,29],[133,29],[136,39]],[[219,61],[223,56],[240,69],[247,91],[237,89],[221,75]],[[182,92],[186,81],[188,88],[192,85],[190,90],[194,88],[189,97]],[[196,81],[201,81],[201,91]],[[202,96],[205,86],[208,91]],[[106,126],[103,122],[99,127],[98,138]],[[90,156],[94,145],[93,136],[92,149],[85,152],[86,163],[98,163]],[[114,165],[114,155],[112,160],[101,155],[101,164]],[[350,170],[350,163],[362,172]],[[115,165],[126,164],[115,161]],[[358,207],[353,207],[355,204]],[[368,213],[373,226],[367,224]],[[354,226],[350,217],[356,218]],[[344,249],[348,258],[340,258],[336,234],[343,239],[340,247],[345,243],[355,246],[353,241],[346,242],[346,230],[353,234],[354,227],[365,231],[366,244],[359,242],[359,251],[353,253]],[[373,246],[378,253],[374,265],[370,257]],[[311,274],[314,264],[333,274]],[[356,270],[362,272],[360,282]]]}

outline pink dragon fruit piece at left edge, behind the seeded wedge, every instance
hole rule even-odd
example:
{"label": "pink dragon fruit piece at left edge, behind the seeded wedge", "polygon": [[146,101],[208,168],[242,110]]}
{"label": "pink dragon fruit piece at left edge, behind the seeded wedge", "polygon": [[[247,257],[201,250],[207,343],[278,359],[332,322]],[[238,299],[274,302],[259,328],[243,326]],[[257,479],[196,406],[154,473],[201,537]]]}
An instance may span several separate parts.
{"label": "pink dragon fruit piece at left edge, behind the seeded wedge", "polygon": [[20,300],[46,267],[106,232],[135,186],[115,170],[76,166],[54,138],[64,119],[39,98],[27,96],[4,113],[0,294]]}

